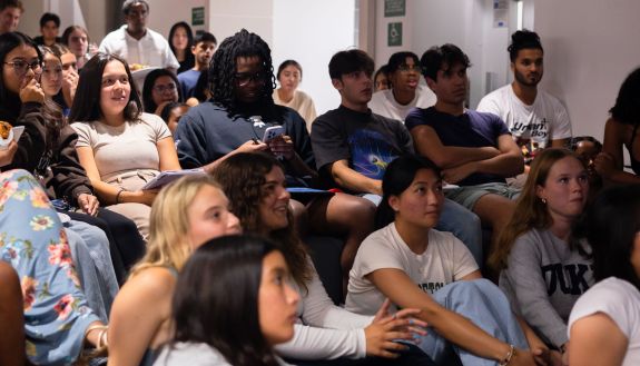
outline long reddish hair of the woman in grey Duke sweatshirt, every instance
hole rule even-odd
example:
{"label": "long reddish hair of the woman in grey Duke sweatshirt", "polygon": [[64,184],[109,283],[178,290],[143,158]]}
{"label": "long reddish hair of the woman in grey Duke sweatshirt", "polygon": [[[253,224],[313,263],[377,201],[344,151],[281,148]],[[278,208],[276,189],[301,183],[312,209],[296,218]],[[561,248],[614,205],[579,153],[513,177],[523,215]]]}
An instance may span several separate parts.
{"label": "long reddish hair of the woman in grey Duke sweatshirt", "polygon": [[[584,165],[571,150],[564,148],[549,148],[540,152],[526,177],[520,197],[515,202],[515,210],[506,227],[498,238],[495,250],[489,257],[489,266],[498,271],[506,268],[511,248],[522,234],[531,229],[547,229],[553,224],[547,205],[538,197],[538,186],[544,187],[549,171],[555,162],[571,157]],[[570,239],[570,247],[573,243]]]}

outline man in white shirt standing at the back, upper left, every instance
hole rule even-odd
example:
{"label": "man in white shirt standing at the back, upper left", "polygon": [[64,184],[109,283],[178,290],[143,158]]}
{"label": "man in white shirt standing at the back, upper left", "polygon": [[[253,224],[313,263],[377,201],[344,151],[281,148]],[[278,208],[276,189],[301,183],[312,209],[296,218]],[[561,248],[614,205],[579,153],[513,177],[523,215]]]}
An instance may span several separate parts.
{"label": "man in white shirt standing at the back, upper left", "polygon": [[129,65],[158,67],[176,72],[180,63],[169,43],[160,33],[147,28],[149,3],[146,0],[127,0],[122,3],[122,13],[127,23],[107,34],[99,51],[117,55]]}

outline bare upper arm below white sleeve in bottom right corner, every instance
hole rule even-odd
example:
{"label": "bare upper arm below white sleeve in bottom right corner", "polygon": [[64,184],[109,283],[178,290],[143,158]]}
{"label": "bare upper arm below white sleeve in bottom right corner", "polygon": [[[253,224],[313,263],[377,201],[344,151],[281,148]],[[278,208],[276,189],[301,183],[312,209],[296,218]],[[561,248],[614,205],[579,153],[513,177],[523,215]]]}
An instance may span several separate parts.
{"label": "bare upper arm below white sleeve in bottom right corner", "polygon": [[569,332],[570,365],[622,365],[629,340],[608,315],[583,317]]}

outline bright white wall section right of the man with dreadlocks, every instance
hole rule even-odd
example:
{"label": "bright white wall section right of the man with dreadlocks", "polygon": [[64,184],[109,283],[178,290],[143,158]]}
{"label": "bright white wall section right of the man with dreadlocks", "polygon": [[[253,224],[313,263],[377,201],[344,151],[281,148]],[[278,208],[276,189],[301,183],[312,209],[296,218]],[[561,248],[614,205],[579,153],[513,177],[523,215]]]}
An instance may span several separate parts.
{"label": "bright white wall section right of the man with dreadlocks", "polygon": [[286,59],[298,61],[303,67],[301,90],[314,99],[318,115],[339,106],[328,61],[335,52],[354,46],[354,11],[353,0],[274,0],[274,71]]}

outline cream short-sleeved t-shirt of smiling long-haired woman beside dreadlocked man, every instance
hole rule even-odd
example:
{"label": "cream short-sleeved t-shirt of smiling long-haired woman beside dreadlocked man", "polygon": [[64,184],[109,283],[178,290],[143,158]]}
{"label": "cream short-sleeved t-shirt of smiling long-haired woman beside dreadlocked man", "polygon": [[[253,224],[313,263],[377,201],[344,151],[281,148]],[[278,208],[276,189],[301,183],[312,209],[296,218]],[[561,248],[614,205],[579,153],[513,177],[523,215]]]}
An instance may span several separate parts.
{"label": "cream short-sleeved t-shirt of smiling long-haired woman beside dreadlocked man", "polygon": [[140,169],[159,171],[157,144],[171,137],[167,123],[151,113],[141,113],[138,121],[118,127],[100,121],[75,122],[71,127],[78,133],[76,147],[88,146],[93,150],[102,181]]}

